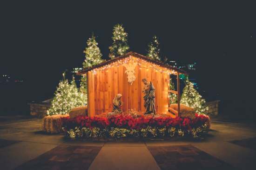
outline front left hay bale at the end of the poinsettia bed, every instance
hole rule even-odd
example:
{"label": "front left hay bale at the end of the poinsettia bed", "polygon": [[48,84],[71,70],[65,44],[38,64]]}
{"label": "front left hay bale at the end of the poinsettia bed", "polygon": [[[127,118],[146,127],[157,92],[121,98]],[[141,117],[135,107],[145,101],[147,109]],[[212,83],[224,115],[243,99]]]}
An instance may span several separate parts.
{"label": "front left hay bale at the end of the poinsettia bed", "polygon": [[68,114],[56,114],[46,116],[42,121],[42,130],[47,133],[59,133],[61,132],[62,121],[61,118],[69,116]]}

